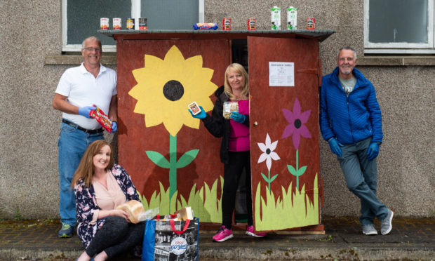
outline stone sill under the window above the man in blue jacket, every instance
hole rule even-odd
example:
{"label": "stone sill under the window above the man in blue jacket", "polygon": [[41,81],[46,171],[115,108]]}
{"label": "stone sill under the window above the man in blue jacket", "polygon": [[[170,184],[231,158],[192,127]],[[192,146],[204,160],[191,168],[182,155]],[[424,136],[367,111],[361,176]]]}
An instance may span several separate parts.
{"label": "stone sill under the window above the man in blue jacket", "polygon": [[435,66],[435,56],[365,56],[356,66]]}

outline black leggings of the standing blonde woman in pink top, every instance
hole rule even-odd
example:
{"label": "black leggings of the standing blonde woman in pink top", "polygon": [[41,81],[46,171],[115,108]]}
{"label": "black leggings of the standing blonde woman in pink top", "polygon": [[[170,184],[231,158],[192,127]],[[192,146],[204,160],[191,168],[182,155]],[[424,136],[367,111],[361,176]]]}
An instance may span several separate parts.
{"label": "black leggings of the standing blonde woman in pink top", "polygon": [[229,152],[229,163],[224,165],[224,192],[222,194],[222,225],[232,227],[236,192],[243,168],[246,169],[246,209],[248,225],[253,225],[252,196],[250,188],[250,152]]}

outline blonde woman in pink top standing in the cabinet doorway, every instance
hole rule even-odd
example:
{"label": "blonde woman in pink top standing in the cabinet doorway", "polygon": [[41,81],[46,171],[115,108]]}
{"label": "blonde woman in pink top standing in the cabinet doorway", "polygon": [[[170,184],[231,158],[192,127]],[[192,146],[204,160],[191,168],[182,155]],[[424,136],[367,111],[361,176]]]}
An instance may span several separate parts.
{"label": "blonde woman in pink top standing in the cabinet doorway", "polygon": [[[250,187],[250,145],[249,145],[249,84],[248,73],[238,63],[229,65],[225,71],[225,84],[217,89],[217,100],[210,115],[204,112],[194,118],[201,119],[207,130],[217,138],[222,138],[220,160],[224,163],[224,189],[222,194],[222,227],[213,236],[213,241],[222,242],[232,239],[232,215],[236,191],[243,168],[246,170],[246,208],[248,226],[246,234],[262,237],[264,233],[255,234],[253,227],[252,198]],[[231,119],[223,116],[224,102],[237,102],[239,112],[232,112]],[[191,112],[192,113],[192,112]]]}

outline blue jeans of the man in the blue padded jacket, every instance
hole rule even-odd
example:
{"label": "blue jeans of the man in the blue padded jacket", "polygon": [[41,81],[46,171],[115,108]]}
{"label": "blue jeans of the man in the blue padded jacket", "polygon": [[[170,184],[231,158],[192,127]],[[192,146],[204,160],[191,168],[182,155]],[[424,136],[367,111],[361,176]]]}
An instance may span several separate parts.
{"label": "blue jeans of the man in the blue padded jacket", "polygon": [[388,215],[387,206],[376,196],[376,159],[367,160],[367,149],[371,141],[371,138],[367,138],[352,145],[344,145],[341,147],[342,156],[337,157],[347,188],[361,200],[361,225],[373,224],[375,217],[382,220]]}

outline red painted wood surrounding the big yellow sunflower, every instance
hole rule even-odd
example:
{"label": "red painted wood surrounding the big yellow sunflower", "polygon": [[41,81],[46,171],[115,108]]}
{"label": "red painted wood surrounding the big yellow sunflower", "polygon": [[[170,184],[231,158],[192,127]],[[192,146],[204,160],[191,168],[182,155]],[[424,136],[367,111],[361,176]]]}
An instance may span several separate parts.
{"label": "red painted wood surrounding the big yellow sunflower", "polygon": [[[119,163],[131,175],[138,192],[145,195],[147,199],[154,191],[160,191],[159,182],[165,189],[168,189],[169,170],[156,166],[148,159],[145,151],[159,152],[166,156],[166,159],[169,159],[169,133],[163,124],[145,128],[145,116],[133,112],[137,101],[128,95],[128,91],[137,84],[132,71],[144,67],[145,54],[163,59],[173,45],[180,49],[185,59],[202,55],[203,67],[214,70],[211,81],[217,86],[223,84],[223,75],[229,64],[229,44],[226,39],[214,41],[137,41],[118,38],[116,48]],[[211,98],[214,102],[214,95]],[[200,124],[199,130],[182,126],[177,139],[178,159],[190,149],[200,149],[200,153],[192,163],[185,168],[178,169],[178,199],[181,193],[187,200],[194,184],[196,184],[197,189],[203,187],[203,182],[207,182],[211,187],[212,182],[222,175],[223,167],[219,159],[220,139],[210,135],[203,123]],[[220,196],[220,186],[217,191],[219,192],[218,196]]]}

